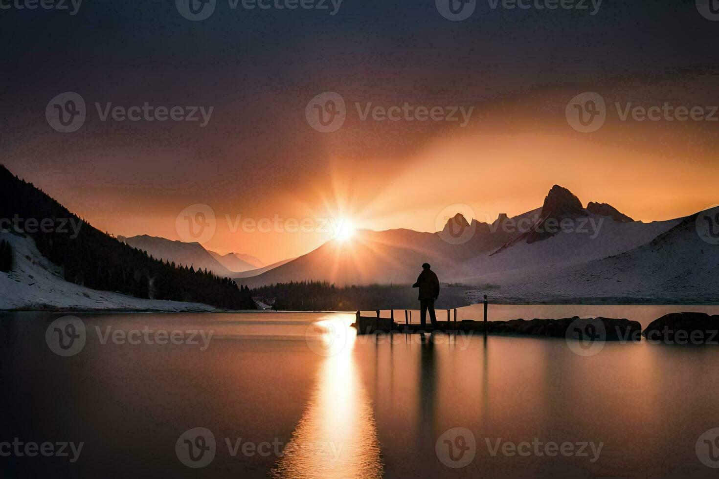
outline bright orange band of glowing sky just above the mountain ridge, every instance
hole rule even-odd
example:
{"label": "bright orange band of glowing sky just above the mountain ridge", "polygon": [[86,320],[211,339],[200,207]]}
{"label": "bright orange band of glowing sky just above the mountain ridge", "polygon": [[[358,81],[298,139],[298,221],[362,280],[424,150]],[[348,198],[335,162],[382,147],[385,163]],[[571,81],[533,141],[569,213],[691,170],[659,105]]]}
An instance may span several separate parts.
{"label": "bright orange band of glowing sky just above the mountain ridge", "polygon": [[[436,231],[437,217],[449,205],[469,205],[477,219],[492,221],[498,213],[516,215],[541,206],[555,183],[568,187],[585,205],[610,203],[643,221],[677,218],[718,201],[716,167],[602,147],[581,138],[470,134],[431,142],[406,159],[401,171],[390,162],[374,162],[372,169],[362,163],[337,160],[313,184],[268,192],[265,202],[252,210],[211,205],[216,233],[204,246],[279,261],[331,238],[339,225],[331,220],[351,218],[357,227],[376,230]],[[85,209],[96,227],[112,233],[180,238],[174,211],[162,215],[138,205],[137,214],[107,217],[101,210]],[[237,215],[242,215],[239,222]],[[273,221],[275,215],[285,222]],[[260,231],[260,225],[243,230],[244,218],[267,218],[265,230],[272,231]],[[306,231],[318,231],[293,232],[288,218],[305,220]]]}

